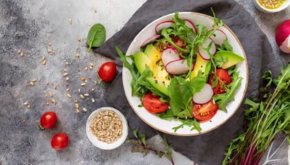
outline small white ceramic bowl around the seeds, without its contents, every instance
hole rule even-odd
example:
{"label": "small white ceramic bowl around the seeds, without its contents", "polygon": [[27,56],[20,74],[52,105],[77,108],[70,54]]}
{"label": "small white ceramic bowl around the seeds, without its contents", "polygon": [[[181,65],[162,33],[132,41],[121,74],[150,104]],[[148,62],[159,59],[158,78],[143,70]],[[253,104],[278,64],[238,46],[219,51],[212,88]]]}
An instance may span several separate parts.
{"label": "small white ceramic bowl around the seeds, without its contents", "polygon": [[[119,140],[117,140],[116,142],[113,142],[112,144],[107,144],[106,142],[101,142],[97,140],[97,137],[93,135],[92,131],[90,131],[90,124],[93,122],[93,119],[101,111],[115,111],[115,113],[119,115],[120,120],[122,120],[122,123],[123,123],[122,137],[119,138]],[[118,146],[121,146],[125,142],[128,136],[128,123],[125,116],[117,109],[114,109],[111,107],[103,107],[103,108],[93,111],[93,113],[91,113],[90,116],[88,117],[88,120],[86,122],[86,135],[88,135],[88,139],[90,140],[90,142],[92,142],[98,148],[101,148],[104,150],[114,149],[114,148],[117,148]]]}

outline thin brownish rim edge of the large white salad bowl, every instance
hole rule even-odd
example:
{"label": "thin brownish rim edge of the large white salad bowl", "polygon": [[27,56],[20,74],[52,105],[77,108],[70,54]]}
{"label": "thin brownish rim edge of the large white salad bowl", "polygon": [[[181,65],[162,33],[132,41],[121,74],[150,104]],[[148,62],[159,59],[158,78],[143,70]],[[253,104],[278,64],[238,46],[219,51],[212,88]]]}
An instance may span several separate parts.
{"label": "thin brownish rim edge of the large white salad bowl", "polygon": [[[151,23],[149,23],[148,25],[146,25],[136,36],[135,38],[133,39],[133,41],[135,41],[135,39],[140,35],[142,34],[142,32],[144,32],[144,30],[146,30],[146,28],[148,26],[150,26],[151,24],[157,22],[157,21],[160,21],[161,19],[164,19],[170,15],[174,16],[175,12],[173,13],[170,13],[170,14],[166,14],[160,18],[157,18],[155,19],[154,21],[151,21]],[[207,14],[202,14],[202,13],[199,13],[199,12],[179,12],[179,14],[197,14],[197,15],[200,15],[200,16],[203,16],[203,17],[208,17],[209,19],[212,19],[213,20],[213,17],[207,15]],[[245,84],[245,89],[243,91],[243,96],[242,96],[242,99],[241,100],[244,100],[244,96],[246,95],[246,92],[247,92],[247,87],[248,87],[248,82],[249,82],[249,68],[248,68],[248,63],[247,63],[247,56],[246,56],[246,53],[244,52],[244,48],[242,47],[242,44],[240,43],[240,40],[238,39],[238,37],[233,33],[233,31],[224,24],[224,28],[226,28],[227,30],[229,30],[229,32],[233,35],[233,37],[235,38],[236,41],[238,41],[238,44],[242,50],[242,55],[244,56],[244,61],[246,63],[246,72],[247,72],[247,80],[246,80],[246,84]],[[132,47],[132,43],[133,41],[131,42],[131,45],[128,47],[128,50],[131,50],[131,47]],[[128,52],[127,50],[127,52]],[[126,52],[126,54],[127,54]],[[125,69],[125,67],[123,67],[123,69]],[[124,75],[124,74],[123,74]],[[124,76],[122,76],[122,80],[123,80],[123,85],[124,85]],[[125,95],[126,95],[126,98],[128,100],[128,96],[127,96],[127,93],[125,92]],[[128,101],[131,108],[133,109],[133,111],[135,111],[135,113],[138,115],[138,117],[144,121],[146,124],[148,124],[149,126],[151,126],[153,129],[157,130],[157,131],[161,131],[163,133],[167,133],[169,135],[177,135],[177,136],[195,136],[195,135],[202,135],[204,133],[208,133],[210,131],[213,131],[214,129],[217,129],[218,127],[222,126],[222,124],[224,124],[226,121],[228,121],[230,118],[233,117],[233,115],[238,111],[238,109],[240,108],[240,105],[242,104],[242,101],[238,104],[238,107],[233,111],[233,113],[229,116],[229,118],[226,118],[226,120],[224,120],[222,123],[218,124],[217,126],[213,127],[212,129],[209,129],[207,131],[203,131],[203,132],[200,132],[200,133],[197,133],[197,134],[190,134],[190,133],[173,133],[173,132],[168,132],[168,131],[164,131],[162,129],[158,129],[157,127],[153,126],[153,124],[150,124],[149,122],[147,122],[146,120],[144,120],[144,118],[142,118],[142,116],[139,115],[139,113],[137,113],[137,111],[133,108],[133,104]]]}

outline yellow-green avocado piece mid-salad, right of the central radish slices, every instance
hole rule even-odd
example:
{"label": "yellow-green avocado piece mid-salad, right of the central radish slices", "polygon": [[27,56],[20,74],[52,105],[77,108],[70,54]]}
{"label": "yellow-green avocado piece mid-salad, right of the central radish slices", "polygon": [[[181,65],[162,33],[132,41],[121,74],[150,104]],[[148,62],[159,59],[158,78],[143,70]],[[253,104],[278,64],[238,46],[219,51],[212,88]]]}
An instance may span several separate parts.
{"label": "yellow-green avocado piece mid-salad, right of the central radish slices", "polygon": [[202,58],[202,56],[197,53],[196,62],[193,71],[191,72],[191,79],[197,76],[200,70],[202,71],[204,76],[209,75],[209,72],[211,72],[211,61],[204,60],[204,58]]}

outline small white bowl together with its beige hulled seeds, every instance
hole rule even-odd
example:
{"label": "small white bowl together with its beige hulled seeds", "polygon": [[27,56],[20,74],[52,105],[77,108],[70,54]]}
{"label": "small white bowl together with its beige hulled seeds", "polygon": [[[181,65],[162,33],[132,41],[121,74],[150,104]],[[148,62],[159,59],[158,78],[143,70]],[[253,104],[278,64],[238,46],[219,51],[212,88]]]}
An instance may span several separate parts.
{"label": "small white bowl together with its beige hulled seeds", "polygon": [[128,136],[128,124],[117,109],[103,107],[93,111],[86,122],[86,135],[98,148],[110,150],[121,146]]}

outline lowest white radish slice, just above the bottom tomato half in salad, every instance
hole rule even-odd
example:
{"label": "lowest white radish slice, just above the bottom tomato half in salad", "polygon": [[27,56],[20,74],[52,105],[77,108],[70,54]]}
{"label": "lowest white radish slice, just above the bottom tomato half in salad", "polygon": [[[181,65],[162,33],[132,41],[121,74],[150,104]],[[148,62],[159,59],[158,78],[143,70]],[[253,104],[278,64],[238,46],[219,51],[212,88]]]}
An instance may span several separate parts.
{"label": "lowest white radish slice, just above the bottom tomato half in salad", "polygon": [[204,104],[213,98],[213,89],[211,85],[205,84],[200,92],[193,95],[193,102],[197,104]]}

